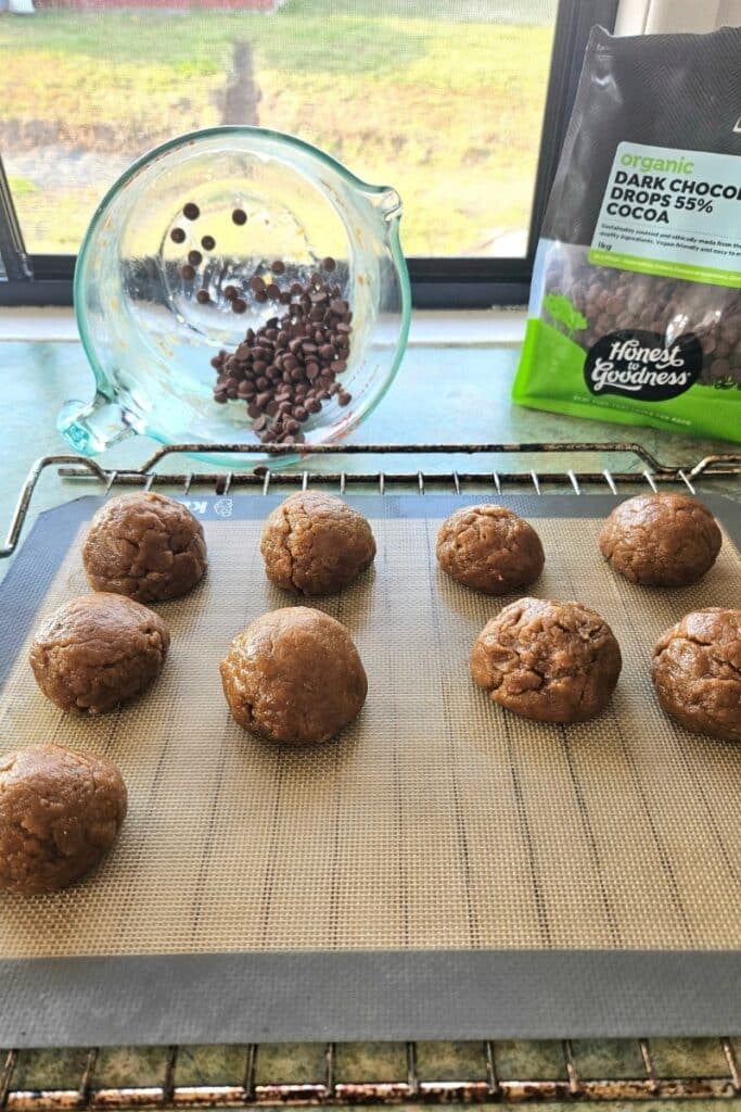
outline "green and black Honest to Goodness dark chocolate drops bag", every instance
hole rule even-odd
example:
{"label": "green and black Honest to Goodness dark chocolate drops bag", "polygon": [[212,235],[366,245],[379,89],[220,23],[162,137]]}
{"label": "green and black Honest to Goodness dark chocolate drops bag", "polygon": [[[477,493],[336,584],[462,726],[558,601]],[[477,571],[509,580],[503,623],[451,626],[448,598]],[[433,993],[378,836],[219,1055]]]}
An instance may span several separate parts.
{"label": "green and black Honest to Goodness dark chocolate drops bag", "polygon": [[512,397],[741,441],[741,29],[592,31]]}

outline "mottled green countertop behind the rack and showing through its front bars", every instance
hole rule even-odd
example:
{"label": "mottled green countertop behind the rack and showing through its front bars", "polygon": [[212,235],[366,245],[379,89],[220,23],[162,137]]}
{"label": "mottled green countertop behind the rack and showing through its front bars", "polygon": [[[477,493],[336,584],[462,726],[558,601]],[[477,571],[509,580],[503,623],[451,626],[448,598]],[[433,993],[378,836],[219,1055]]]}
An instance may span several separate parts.
{"label": "mottled green countertop behind the rack and showing through its front bars", "polygon": [[[510,385],[517,367],[515,347],[435,346],[411,347],[393,387],[375,413],[349,443],[352,444],[534,444],[534,443],[638,443],[661,464],[679,466],[689,473],[705,456],[732,453],[732,445],[690,439],[651,429],[633,429],[619,425],[583,421],[535,410],[513,407],[509,400]],[[91,376],[77,342],[0,342],[0,411],[3,436],[0,440],[2,484],[0,484],[0,529],[4,534],[21,483],[38,457],[67,451],[54,428],[57,413],[68,398],[87,399],[92,393]],[[146,438],[132,438],[100,457],[112,468],[139,467],[157,445]],[[377,458],[372,466],[385,470],[422,471],[425,477],[441,473],[442,481],[453,483],[453,470],[460,473],[481,468],[484,476],[478,489],[494,492],[492,471],[535,469],[543,490],[551,488],[547,473],[568,469],[601,471],[630,470],[637,486],[623,484],[620,493],[629,494],[647,480],[641,476],[645,463],[630,455],[584,454],[543,456],[512,453],[472,459],[464,450],[452,458],[441,459],[415,454]],[[301,471],[307,464],[294,468]],[[206,470],[193,460],[170,460],[169,471]],[[312,461],[311,467],[314,468]],[[319,460],[316,469],[368,471],[369,461],[358,456],[341,460]],[[297,481],[300,477],[297,476]],[[473,489],[473,487],[471,487]],[[31,504],[30,520],[42,509],[80,494],[98,493],[97,480],[61,479],[53,469],[44,473]],[[167,489],[167,488],[166,488]],[[449,486],[450,489],[450,486]],[[511,487],[514,489],[514,487]],[[520,488],[522,489],[522,488]],[[532,489],[532,487],[531,487]],[[569,487],[570,489],[570,487]],[[585,489],[585,488],[584,488]],[[741,490],[735,479],[702,479],[698,489],[714,489],[731,494]],[[608,490],[601,486],[602,493]],[[7,568],[8,560],[0,567]],[[741,1042],[741,1040],[739,1040]],[[638,1042],[578,1042],[573,1044],[574,1063],[581,1076],[645,1078]],[[653,1040],[653,1066],[659,1076],[713,1075],[727,1079],[729,1063],[718,1040]],[[166,1053],[162,1049],[113,1049],[101,1052],[93,1084],[131,1085],[162,1083]],[[480,1045],[423,1044],[419,1048],[418,1074],[423,1080],[485,1080]],[[72,1088],[80,1083],[86,1052],[23,1052],[11,1088]],[[554,1043],[498,1043],[497,1065],[501,1078],[567,1078],[564,1049]],[[338,1048],[337,1078],[342,1081],[398,1081],[407,1076],[405,1049],[387,1046]],[[263,1048],[258,1055],[257,1082],[321,1082],[323,1048]],[[0,1060],[0,1074],[2,1060]],[[178,1085],[241,1083],[244,1073],[244,1050],[240,1048],[189,1048],[178,1060]],[[1,1084],[0,1084],[1,1088]],[[650,1108],[654,1102],[643,1102]],[[709,1102],[694,1101],[693,1105]],[[741,1104],[741,1101],[738,1102]],[[732,1101],[737,1104],[737,1101]],[[663,1108],[671,1106],[665,1101]],[[621,1108],[627,1106],[621,1103]]]}

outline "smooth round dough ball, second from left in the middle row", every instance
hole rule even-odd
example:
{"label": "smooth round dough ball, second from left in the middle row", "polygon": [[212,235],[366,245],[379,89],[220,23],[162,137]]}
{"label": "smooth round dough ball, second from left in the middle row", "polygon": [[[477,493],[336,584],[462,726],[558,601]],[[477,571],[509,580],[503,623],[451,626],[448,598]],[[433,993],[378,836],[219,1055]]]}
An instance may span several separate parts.
{"label": "smooth round dough ball, second from left in the middle row", "polygon": [[240,726],[271,742],[326,742],[366,702],[358,649],[336,618],[308,606],[263,614],[231,643],[221,682]]}

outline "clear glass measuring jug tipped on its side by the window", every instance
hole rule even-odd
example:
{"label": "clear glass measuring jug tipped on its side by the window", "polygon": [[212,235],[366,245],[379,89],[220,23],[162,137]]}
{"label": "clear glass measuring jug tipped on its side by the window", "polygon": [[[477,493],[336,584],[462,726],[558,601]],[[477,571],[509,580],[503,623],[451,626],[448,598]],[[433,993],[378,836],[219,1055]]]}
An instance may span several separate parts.
{"label": "clear glass measuring jug tipped on its side by the window", "polygon": [[[186,206],[197,206],[197,219],[183,215]],[[404,351],[411,296],[401,208],[395,190],[264,128],[209,128],[144,155],[103,198],[80,250],[74,309],[96,394],[89,404],[68,401],[58,428],[84,455],[142,433],[162,444],[249,444],[256,453],[246,466],[264,461],[246,403],[214,401],[210,360],[286,311],[254,299],[256,275],[288,290],[330,257],[337,267],[323,278],[353,315],[348,367],[338,376],[351,401],[324,401],[301,433],[306,450],[339,440],[383,397]],[[246,221],[236,222],[238,211]],[[203,237],[213,248],[204,249]],[[183,277],[193,250],[202,261]],[[228,286],[244,312],[232,310]],[[234,467],[240,457],[210,458]]]}

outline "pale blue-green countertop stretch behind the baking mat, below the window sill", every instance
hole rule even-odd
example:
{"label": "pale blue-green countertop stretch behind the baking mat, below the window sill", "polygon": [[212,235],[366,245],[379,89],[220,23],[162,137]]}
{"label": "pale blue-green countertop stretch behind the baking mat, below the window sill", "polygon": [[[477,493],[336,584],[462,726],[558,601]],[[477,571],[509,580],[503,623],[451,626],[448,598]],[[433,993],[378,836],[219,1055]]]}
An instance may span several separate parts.
{"label": "pale blue-green countertop stretch behind the baking mat, below the window sill", "polygon": [[[645,428],[631,428],[600,421],[524,409],[513,406],[510,386],[519,349],[512,347],[451,345],[412,346],[402,368],[375,411],[348,438],[351,445],[409,444],[524,444],[548,443],[633,443],[640,444],[659,463],[682,467],[687,473],[702,458],[718,453],[739,451],[737,446],[718,440],[693,439]],[[10,342],[0,341],[0,375],[2,394],[3,437],[0,443],[2,489],[0,490],[0,529],[4,528],[18,490],[34,459],[42,455],[70,449],[56,430],[60,406],[69,398],[87,400],[92,396],[92,378],[82,350],[77,342]],[[103,455],[98,461],[108,468],[138,468],[159,446],[147,437],[131,437]],[[236,467],[248,467],[244,458]],[[162,465],[170,474],[212,471],[213,467],[192,458],[170,456]],[[162,466],[159,468],[162,470]],[[637,486],[621,487],[621,493],[648,489],[641,473],[645,461],[631,453],[499,453],[481,457],[464,450],[451,456],[424,454],[360,457],[314,457],[312,470],[369,473],[379,469],[402,470],[424,476],[441,474],[452,488],[452,473],[481,471],[483,478],[475,489],[494,492],[492,473],[535,470],[543,489],[559,489],[548,483],[548,473],[558,471],[561,479],[569,469],[600,473],[632,471]],[[301,473],[306,463],[287,468]],[[297,476],[297,481],[299,480]],[[528,479],[528,484],[530,480]],[[474,487],[470,486],[471,489]],[[61,500],[80,494],[97,493],[98,481],[63,480],[56,471],[47,473],[33,497],[29,524],[34,515]],[[170,487],[162,487],[171,490]],[[510,490],[523,487],[510,486]],[[532,486],[530,486],[532,490]],[[569,486],[569,489],[571,487]],[[584,488],[587,489],[587,488]],[[608,492],[607,484],[595,489]],[[738,493],[741,479],[703,479],[699,489],[722,489]],[[1,569],[0,569],[1,574]]]}

